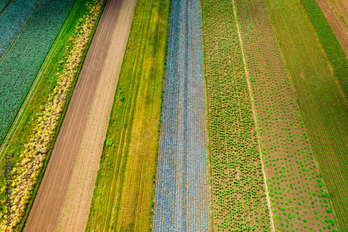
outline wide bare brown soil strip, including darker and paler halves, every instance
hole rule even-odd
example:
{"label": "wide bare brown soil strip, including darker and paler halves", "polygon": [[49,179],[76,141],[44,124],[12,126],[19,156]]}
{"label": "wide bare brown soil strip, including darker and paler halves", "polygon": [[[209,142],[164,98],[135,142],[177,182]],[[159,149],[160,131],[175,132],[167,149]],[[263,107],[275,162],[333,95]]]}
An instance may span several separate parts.
{"label": "wide bare brown soil strip, including darker and paler halves", "polygon": [[24,231],[84,231],[136,0],[106,2]]}

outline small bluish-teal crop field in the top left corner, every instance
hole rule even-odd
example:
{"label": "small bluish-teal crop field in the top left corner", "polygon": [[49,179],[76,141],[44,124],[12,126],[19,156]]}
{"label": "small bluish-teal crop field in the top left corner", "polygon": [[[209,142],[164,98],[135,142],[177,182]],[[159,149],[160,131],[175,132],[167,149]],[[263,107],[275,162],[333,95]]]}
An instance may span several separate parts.
{"label": "small bluish-teal crop field in the top left corner", "polygon": [[13,0],[0,15],[0,61],[42,0]]}

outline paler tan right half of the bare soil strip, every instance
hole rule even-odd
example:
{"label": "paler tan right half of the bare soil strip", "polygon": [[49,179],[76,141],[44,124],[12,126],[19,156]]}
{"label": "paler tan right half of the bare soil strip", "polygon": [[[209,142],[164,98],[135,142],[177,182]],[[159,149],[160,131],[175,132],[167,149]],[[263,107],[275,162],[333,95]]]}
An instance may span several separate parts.
{"label": "paler tan right half of the bare soil strip", "polygon": [[[109,3],[112,4],[112,1]],[[113,18],[108,17],[108,20],[113,22],[113,25],[110,25],[111,45],[105,56],[97,84],[93,106],[90,109],[84,138],[79,148],[79,156],[59,218],[58,231],[85,231],[88,221],[100,157],[136,1],[116,1],[113,4],[115,4],[114,7],[106,5],[104,10],[106,17],[108,14],[113,14]]]}

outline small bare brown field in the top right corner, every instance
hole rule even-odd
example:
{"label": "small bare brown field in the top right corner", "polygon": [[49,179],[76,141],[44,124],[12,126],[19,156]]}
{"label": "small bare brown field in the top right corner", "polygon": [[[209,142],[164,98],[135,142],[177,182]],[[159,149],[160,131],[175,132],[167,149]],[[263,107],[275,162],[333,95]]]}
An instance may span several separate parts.
{"label": "small bare brown field in the top right corner", "polygon": [[317,0],[317,3],[348,57],[348,1]]}

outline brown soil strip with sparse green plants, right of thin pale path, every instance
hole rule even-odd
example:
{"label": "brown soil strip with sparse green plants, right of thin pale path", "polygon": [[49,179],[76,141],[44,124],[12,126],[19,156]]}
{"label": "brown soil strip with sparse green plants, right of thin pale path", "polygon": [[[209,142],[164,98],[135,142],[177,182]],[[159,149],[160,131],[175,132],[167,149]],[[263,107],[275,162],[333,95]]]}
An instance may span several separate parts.
{"label": "brown soil strip with sparse green plants, right of thin pale path", "polygon": [[335,231],[305,123],[263,0],[235,0],[276,231]]}

